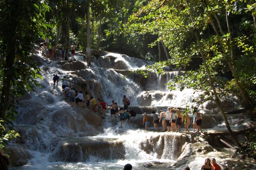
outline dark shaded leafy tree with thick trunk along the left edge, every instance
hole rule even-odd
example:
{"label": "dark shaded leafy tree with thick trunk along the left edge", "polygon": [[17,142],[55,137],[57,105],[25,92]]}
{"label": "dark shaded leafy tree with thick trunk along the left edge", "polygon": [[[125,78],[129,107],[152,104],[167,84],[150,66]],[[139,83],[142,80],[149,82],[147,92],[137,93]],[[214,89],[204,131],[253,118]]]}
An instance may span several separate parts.
{"label": "dark shaded leafy tree with thick trunk along the left edge", "polygon": [[39,37],[37,20],[49,10],[40,0],[2,0],[0,3],[0,118],[13,118],[15,97],[38,85],[32,60],[33,42]]}

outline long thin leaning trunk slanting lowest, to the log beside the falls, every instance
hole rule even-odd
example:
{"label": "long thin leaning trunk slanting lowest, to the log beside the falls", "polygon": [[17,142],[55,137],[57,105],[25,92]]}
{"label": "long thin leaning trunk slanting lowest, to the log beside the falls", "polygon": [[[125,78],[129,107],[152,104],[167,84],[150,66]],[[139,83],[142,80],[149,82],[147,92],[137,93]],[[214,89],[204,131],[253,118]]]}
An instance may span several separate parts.
{"label": "long thin leaning trunk slanting lowest, to the log beside the falls", "polygon": [[[190,6],[188,4],[188,0],[186,0],[186,4],[187,4],[187,7],[189,7],[189,15],[190,15],[190,18],[191,18],[191,22],[194,23],[194,19],[193,19],[193,16],[192,16],[192,11],[190,11]],[[210,80],[210,86],[211,86],[211,89],[213,91],[213,94],[214,94],[214,97],[215,97],[215,101],[217,102],[217,105],[219,107],[219,110],[221,111],[221,114],[223,116],[223,120],[226,124],[226,127],[228,129],[228,132],[230,133],[230,137],[233,139],[233,141],[236,143],[236,145],[241,148],[241,144],[239,143],[239,141],[234,137],[233,135],[233,132],[232,132],[232,129],[228,123],[228,119],[226,117],[226,115],[224,114],[224,111],[223,111],[223,107],[221,105],[221,101],[219,99],[219,96],[216,92],[216,89],[214,87],[214,83],[213,83],[213,78],[211,77],[211,73],[210,73],[210,70],[208,68],[208,65],[206,63],[206,57],[204,56],[204,53],[203,53],[203,49],[202,49],[202,45],[201,45],[201,42],[200,42],[200,38],[199,38],[199,35],[198,35],[198,32],[197,32],[197,29],[195,28],[195,25],[193,24],[193,29],[195,31],[195,35],[196,35],[196,38],[197,38],[197,44],[198,44],[198,47],[199,47],[199,50],[200,50],[200,54],[201,54],[201,57],[202,57],[202,60],[203,60],[203,63],[204,63],[204,67],[206,69],[206,73],[207,73],[207,76],[208,76],[208,79]]]}

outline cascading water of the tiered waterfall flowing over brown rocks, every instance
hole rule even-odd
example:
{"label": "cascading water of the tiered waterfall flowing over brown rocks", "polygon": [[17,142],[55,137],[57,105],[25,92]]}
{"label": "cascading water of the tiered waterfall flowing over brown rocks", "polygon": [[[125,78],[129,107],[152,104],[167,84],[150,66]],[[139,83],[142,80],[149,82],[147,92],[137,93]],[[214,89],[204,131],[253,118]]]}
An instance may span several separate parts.
{"label": "cascading water of the tiered waterfall flowing over brown rocks", "polygon": [[[163,170],[179,157],[185,142],[191,142],[192,137],[182,133],[146,132],[128,122],[120,128],[119,120],[111,119],[109,113],[102,124],[99,123],[101,119],[96,119],[95,124],[88,124],[87,121],[93,116],[88,114],[94,113],[85,113],[85,109],[72,108],[64,102],[61,82],[53,88],[52,75],[58,74],[60,78],[67,76],[72,86],[87,87],[91,93],[94,92],[93,95],[108,104],[115,100],[122,105],[122,95],[130,98],[132,106],[143,105],[146,98],[150,98],[148,106],[192,104],[193,96],[198,94],[193,94],[191,89],[169,92],[166,87],[159,88],[163,87],[164,81],[156,74],[154,79],[148,81],[158,81],[152,81],[154,86],[145,88],[116,70],[144,68],[150,63],[109,53],[93,60],[92,67],[88,68],[87,63],[82,61],[83,56],[76,55],[76,59],[80,60],[76,63],[80,63],[81,68],[76,70],[72,67],[75,62],[63,64],[43,59],[41,55],[37,57],[42,63],[40,68],[44,79],[38,79],[42,88],[20,102],[19,117],[15,122],[15,128],[24,138],[20,143],[27,163],[11,170],[120,170],[126,163],[132,164],[134,170],[141,170],[148,169],[142,166],[147,162],[153,162],[154,168]],[[180,73],[166,74],[167,81],[171,81],[174,75]],[[147,88],[152,91],[145,92]],[[10,148],[19,147],[20,144],[10,144]],[[195,161],[203,160],[197,159]],[[189,165],[192,169],[200,167],[193,161]],[[181,170],[184,166],[173,169]]]}

